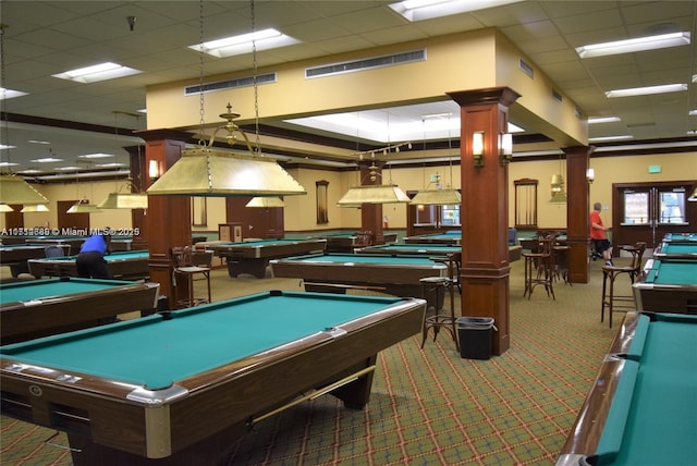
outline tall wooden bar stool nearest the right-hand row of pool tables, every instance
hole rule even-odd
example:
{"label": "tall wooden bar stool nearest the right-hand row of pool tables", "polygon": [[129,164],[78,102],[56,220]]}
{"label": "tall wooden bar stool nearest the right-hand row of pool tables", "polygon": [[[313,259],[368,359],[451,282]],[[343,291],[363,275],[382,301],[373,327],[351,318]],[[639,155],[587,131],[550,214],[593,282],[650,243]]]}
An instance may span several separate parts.
{"label": "tall wooden bar stool nearest the right-hand row of pool tables", "polygon": [[[608,306],[608,322],[612,328],[612,312],[625,312],[635,310],[636,304],[633,295],[615,295],[614,281],[623,273],[629,277],[629,282],[634,284],[635,280],[641,273],[641,258],[646,252],[646,243],[636,243],[634,246],[622,246],[632,255],[632,261],[628,266],[602,266],[602,305],[600,306],[600,321],[604,321],[606,306]],[[610,284],[608,286],[608,283]],[[617,302],[624,304],[616,304]]]}

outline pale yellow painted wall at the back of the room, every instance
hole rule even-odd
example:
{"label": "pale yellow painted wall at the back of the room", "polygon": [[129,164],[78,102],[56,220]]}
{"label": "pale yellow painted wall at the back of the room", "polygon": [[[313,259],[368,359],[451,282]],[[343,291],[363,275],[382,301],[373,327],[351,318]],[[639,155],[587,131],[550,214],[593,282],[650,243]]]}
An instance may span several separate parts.
{"label": "pale yellow painted wall at the back of the room", "polygon": [[[661,165],[661,173],[649,173],[649,165]],[[590,186],[590,204],[602,203],[609,209],[603,210],[603,218],[607,222],[612,219],[612,183],[643,183],[643,182],[665,182],[665,181],[689,181],[697,180],[697,152],[684,154],[662,154],[646,156],[625,157],[592,157],[590,167],[596,171],[596,181]],[[514,189],[515,180],[529,177],[539,180],[538,185],[538,225],[539,228],[565,228],[566,226],[566,205],[551,205],[549,183],[553,174],[566,173],[564,161],[541,160],[513,162],[509,165],[509,223],[514,222]],[[454,188],[461,187],[460,165],[451,167],[444,164],[440,168],[418,168],[406,169],[386,168],[383,180],[392,180],[403,191],[418,191],[427,186],[428,177],[438,172],[442,176],[444,184],[451,184]],[[452,172],[452,182],[451,182]],[[360,228],[360,210],[355,208],[337,207],[337,201],[352,186],[357,184],[356,172],[335,172],[314,169],[293,169],[289,173],[295,177],[307,189],[306,196],[286,196],[284,209],[285,230],[289,232],[317,231],[317,230],[340,230]],[[329,181],[328,208],[329,223],[317,224],[316,191],[315,182]],[[99,203],[106,198],[110,192],[118,191],[118,185],[113,181],[81,183],[76,188],[75,184],[39,185],[36,186],[41,194],[50,199],[50,212],[25,213],[25,225],[30,226],[53,226],[57,224],[56,200],[75,199],[87,196]],[[93,194],[94,193],[94,194]],[[568,193],[568,196],[573,196]],[[486,203],[486,199],[482,199]],[[194,232],[217,232],[218,224],[225,222],[224,198],[208,198],[208,225],[193,228]],[[406,207],[404,205],[384,205],[383,213],[388,217],[390,228],[406,229]],[[129,229],[132,226],[130,210],[106,210],[103,213],[93,213],[90,222],[94,228],[111,226],[114,229]],[[4,228],[4,216],[0,216],[0,226]]]}

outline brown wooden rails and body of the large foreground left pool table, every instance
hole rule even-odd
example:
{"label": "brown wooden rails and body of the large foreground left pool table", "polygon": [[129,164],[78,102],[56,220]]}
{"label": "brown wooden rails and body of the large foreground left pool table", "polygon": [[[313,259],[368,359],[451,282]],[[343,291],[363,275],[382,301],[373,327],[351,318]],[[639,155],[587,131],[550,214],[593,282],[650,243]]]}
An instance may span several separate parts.
{"label": "brown wooden rails and body of the large foreground left pool table", "polygon": [[[134,384],[23,365],[4,354],[2,412],[68,431],[71,447],[82,450],[73,453],[75,465],[222,464],[234,438],[253,419],[308,391],[359,372],[357,380],[331,393],[348,407],[363,407],[377,353],[420,332],[425,308],[423,299],[404,299],[331,331],[174,381],[162,396]],[[163,317],[117,326],[148,319]]]}

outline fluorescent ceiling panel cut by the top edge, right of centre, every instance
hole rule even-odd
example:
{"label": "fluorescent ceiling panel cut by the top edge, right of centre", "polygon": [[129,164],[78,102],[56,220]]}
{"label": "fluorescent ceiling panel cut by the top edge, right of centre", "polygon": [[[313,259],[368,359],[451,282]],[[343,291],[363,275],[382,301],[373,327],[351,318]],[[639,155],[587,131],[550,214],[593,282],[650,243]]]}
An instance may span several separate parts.
{"label": "fluorescent ceiling panel cut by the top edge, right of centre", "polygon": [[521,0],[404,0],[390,8],[411,22],[486,10]]}

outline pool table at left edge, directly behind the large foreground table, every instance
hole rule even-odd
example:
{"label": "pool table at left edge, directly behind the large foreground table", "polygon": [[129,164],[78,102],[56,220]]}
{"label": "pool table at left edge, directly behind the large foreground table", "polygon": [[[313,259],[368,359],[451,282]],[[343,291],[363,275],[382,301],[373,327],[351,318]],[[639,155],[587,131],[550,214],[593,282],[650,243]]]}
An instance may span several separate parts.
{"label": "pool table at left edge, directly behind the large foreground table", "polygon": [[14,343],[99,324],[157,307],[159,284],[120,280],[30,280],[0,285],[0,342]]}

